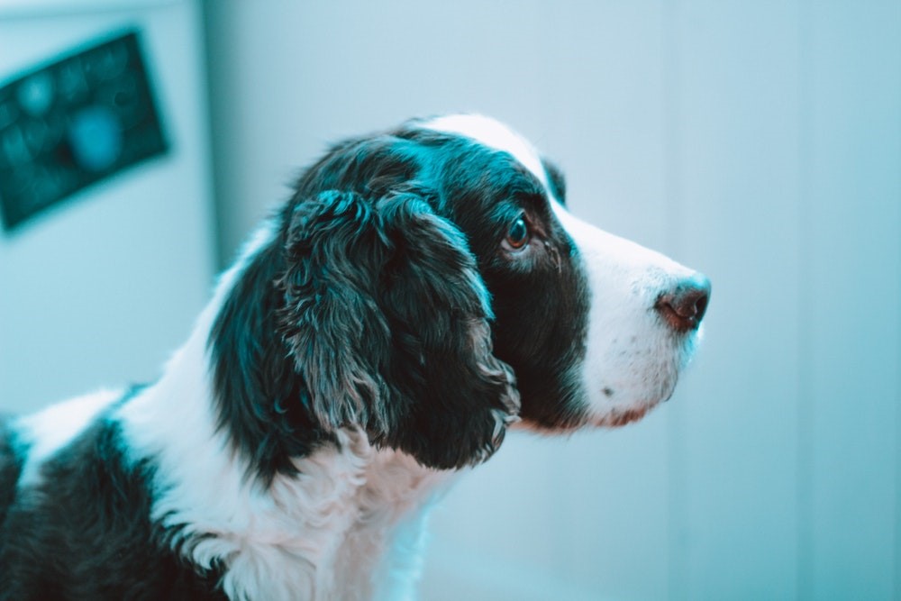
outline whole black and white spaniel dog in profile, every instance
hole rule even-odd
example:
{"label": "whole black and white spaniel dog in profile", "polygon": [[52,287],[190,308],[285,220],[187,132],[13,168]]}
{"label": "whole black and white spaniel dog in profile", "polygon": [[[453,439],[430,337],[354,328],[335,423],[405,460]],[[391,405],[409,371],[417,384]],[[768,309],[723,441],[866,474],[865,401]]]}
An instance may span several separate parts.
{"label": "whole black and white spaniel dog in profile", "polygon": [[406,599],[430,501],[510,423],[666,400],[701,275],[579,221],[475,115],[345,141],[155,384],[0,425],[0,599]]}

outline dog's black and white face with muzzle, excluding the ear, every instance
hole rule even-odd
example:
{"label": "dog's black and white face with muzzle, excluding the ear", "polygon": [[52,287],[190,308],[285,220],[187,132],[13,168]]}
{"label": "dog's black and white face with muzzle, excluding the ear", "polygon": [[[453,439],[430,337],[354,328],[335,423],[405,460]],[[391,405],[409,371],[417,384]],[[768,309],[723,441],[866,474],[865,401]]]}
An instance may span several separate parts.
{"label": "dog's black and white face with muzzle, excluding the ear", "polygon": [[505,126],[454,115],[422,127],[477,143],[438,180],[492,296],[495,352],[514,369],[523,425],[622,425],[668,399],[709,281],[569,214],[560,171]]}

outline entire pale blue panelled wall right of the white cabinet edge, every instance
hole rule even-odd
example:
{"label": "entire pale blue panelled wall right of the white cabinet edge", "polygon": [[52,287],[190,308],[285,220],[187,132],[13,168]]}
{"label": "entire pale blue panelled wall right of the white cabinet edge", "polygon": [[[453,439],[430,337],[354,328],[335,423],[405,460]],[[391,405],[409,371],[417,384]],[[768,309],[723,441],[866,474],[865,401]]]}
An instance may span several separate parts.
{"label": "entire pale blue panelled wall right of the white cabinet edge", "polygon": [[901,4],[206,10],[224,256],[326,142],[475,110],[713,279],[673,400],[511,436],[434,514],[423,598],[901,598]]}

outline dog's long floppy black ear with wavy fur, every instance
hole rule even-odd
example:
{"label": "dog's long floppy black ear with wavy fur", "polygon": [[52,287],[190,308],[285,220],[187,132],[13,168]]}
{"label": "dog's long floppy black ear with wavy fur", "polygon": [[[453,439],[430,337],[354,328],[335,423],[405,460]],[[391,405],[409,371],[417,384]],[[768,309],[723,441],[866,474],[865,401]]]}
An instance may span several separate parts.
{"label": "dog's long floppy black ear with wavy fur", "polygon": [[432,468],[496,450],[519,396],[453,224],[415,194],[326,192],[296,206],[286,252],[283,334],[323,425],[359,424]]}

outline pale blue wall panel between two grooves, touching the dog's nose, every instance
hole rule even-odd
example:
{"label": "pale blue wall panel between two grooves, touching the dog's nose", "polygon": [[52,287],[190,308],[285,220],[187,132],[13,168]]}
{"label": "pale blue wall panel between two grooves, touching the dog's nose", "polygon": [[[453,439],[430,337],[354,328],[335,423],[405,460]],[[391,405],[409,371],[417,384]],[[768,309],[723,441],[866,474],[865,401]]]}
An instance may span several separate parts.
{"label": "pale blue wall panel between two grooves, touching the dog's nose", "polygon": [[796,585],[798,214],[791,3],[685,2],[670,208],[713,297],[687,402],[671,596],[787,599]]}

